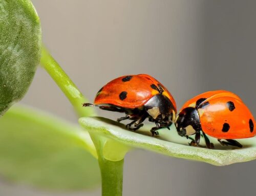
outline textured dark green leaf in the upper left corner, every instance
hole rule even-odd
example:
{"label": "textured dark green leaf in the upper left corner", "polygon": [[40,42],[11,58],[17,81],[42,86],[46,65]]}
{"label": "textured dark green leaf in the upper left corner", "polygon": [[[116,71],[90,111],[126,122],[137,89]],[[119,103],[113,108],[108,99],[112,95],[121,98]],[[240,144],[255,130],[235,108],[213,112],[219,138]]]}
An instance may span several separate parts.
{"label": "textured dark green leaf in the upper left corner", "polygon": [[40,60],[41,27],[29,0],[0,1],[0,116],[23,98]]}

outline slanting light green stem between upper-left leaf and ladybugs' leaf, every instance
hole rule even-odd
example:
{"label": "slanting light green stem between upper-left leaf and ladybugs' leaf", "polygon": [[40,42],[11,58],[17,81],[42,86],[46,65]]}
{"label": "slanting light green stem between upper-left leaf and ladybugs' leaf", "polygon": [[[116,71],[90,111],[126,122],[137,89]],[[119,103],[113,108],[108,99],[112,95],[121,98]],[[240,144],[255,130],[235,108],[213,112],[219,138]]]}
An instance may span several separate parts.
{"label": "slanting light green stem between upper-left leaf and ladybugs' leaf", "polygon": [[82,103],[88,102],[88,100],[83,97],[82,93],[77,89],[77,86],[61,69],[59,64],[44,46],[42,47],[40,63],[53,78],[53,80],[58,84],[61,91],[67,96],[71,104],[74,106],[78,116],[86,117],[95,115],[93,108],[82,107]]}

